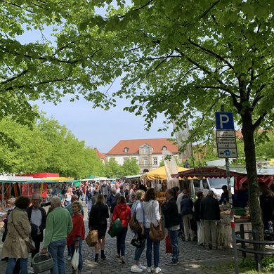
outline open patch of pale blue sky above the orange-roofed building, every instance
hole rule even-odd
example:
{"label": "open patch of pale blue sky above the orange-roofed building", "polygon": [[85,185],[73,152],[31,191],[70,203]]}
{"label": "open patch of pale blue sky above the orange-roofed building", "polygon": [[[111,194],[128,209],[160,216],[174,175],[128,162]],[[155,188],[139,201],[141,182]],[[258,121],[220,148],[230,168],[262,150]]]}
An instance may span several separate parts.
{"label": "open patch of pale blue sky above the orange-roofed building", "polygon": [[172,125],[169,131],[157,132],[162,128],[163,117],[159,115],[150,131],[145,131],[145,120],[141,116],[124,112],[126,100],[120,100],[117,107],[105,111],[93,109],[92,103],[84,99],[70,102],[66,97],[58,105],[46,102],[34,102],[39,109],[46,112],[46,117],[53,117],[59,124],[70,129],[79,141],[85,141],[91,148],[98,148],[106,153],[120,140],[171,138]]}

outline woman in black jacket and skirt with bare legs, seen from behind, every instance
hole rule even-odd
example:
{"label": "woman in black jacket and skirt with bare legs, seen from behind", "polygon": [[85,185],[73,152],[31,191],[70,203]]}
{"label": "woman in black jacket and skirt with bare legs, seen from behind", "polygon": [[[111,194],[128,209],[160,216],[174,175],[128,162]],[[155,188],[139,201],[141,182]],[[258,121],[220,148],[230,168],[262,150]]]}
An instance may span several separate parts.
{"label": "woman in black jacket and skirt with bare legs, seen from behind", "polygon": [[105,233],[107,231],[107,218],[109,218],[108,208],[105,204],[105,198],[102,194],[98,194],[96,197],[96,203],[91,207],[89,214],[89,229],[98,230],[98,242],[95,249],[96,263],[99,261],[99,245],[101,249],[101,259],[105,260]]}

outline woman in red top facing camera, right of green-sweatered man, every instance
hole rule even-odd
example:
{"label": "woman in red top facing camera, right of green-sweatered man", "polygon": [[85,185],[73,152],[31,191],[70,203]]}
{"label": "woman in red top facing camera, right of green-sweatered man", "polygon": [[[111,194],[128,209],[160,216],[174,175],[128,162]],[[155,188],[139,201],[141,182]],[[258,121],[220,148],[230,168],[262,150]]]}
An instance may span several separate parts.
{"label": "woman in red top facing camera, right of green-sweatered man", "polygon": [[[72,203],[72,232],[67,236],[67,247],[70,250],[70,254],[74,254],[75,249],[78,248],[79,252],[79,265],[78,274],[83,270],[83,258],[81,255],[81,246],[85,238],[85,226],[83,215],[79,214],[81,212],[81,202],[74,201]],[[76,269],[72,268],[72,274],[76,273]]]}

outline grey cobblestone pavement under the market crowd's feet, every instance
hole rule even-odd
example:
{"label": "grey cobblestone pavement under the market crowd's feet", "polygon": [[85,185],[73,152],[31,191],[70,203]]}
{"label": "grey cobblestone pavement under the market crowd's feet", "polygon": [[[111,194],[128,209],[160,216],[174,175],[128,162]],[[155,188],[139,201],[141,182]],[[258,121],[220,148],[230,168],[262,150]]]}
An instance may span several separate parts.
{"label": "grey cobblestone pavement under the market crowd's feet", "polygon": [[[85,211],[85,225],[86,234],[88,231],[88,221],[86,218],[86,207]],[[122,264],[119,259],[116,258],[116,237],[111,238],[108,234],[105,240],[105,255],[107,259],[100,259],[99,251],[99,263],[94,262],[95,252],[93,247],[88,247],[86,242],[83,242],[82,255],[84,259],[83,274],[108,274],[108,273],[131,273],[131,265],[133,263],[135,247],[130,242],[133,234],[129,230],[126,236],[126,263]],[[202,247],[198,247],[197,242],[183,242],[179,239],[179,263],[176,266],[166,266],[165,262],[171,260],[171,254],[165,253],[165,242],[162,241],[160,244],[160,260],[159,267],[162,268],[162,273],[218,273],[214,272],[210,268],[204,268],[204,266],[218,266],[218,264],[225,261],[233,261],[233,249],[218,249],[218,250],[204,250]],[[1,250],[1,245],[0,245]],[[67,258],[67,249],[65,249],[65,258]],[[145,251],[141,256],[141,263],[146,265]],[[152,261],[153,265],[153,261]],[[0,261],[0,274],[4,274],[6,270],[6,262]],[[48,272],[49,273],[49,272]],[[45,274],[48,274],[45,273]],[[66,261],[66,273],[72,273],[70,261]],[[143,271],[146,273],[146,270]],[[226,272],[227,274],[229,272]]]}

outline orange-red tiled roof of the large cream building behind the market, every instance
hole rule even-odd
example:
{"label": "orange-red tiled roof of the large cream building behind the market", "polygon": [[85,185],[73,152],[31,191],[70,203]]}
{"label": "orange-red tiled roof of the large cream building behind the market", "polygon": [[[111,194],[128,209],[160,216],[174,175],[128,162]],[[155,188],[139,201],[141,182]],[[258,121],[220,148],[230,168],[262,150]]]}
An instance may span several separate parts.
{"label": "orange-red tiled roof of the large cream building behind the market", "polygon": [[[167,150],[172,153],[178,153],[178,147],[174,145],[173,141],[169,141],[167,138],[157,138],[121,140],[105,155],[138,155],[139,147],[145,144],[152,146],[152,154],[162,154],[163,146],[166,146]],[[124,148],[129,148],[129,152],[124,152]]]}

